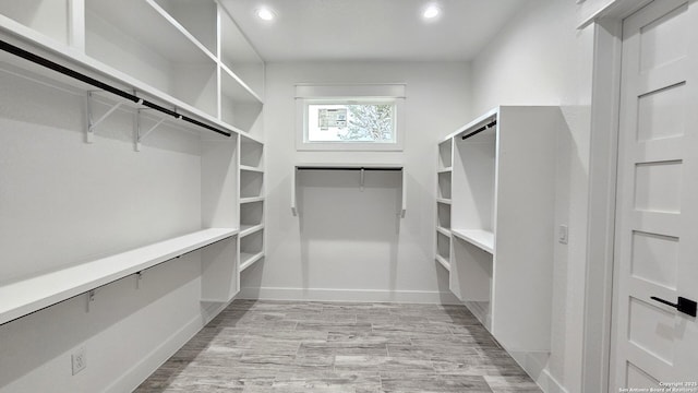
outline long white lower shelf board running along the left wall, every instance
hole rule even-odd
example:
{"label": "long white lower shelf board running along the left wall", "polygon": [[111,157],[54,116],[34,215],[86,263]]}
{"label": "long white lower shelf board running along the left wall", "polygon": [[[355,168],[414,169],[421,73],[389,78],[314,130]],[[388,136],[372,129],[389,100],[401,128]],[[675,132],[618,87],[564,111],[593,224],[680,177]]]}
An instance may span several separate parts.
{"label": "long white lower shelf board running along the left wall", "polygon": [[0,284],[0,324],[234,236],[210,228],[29,278]]}

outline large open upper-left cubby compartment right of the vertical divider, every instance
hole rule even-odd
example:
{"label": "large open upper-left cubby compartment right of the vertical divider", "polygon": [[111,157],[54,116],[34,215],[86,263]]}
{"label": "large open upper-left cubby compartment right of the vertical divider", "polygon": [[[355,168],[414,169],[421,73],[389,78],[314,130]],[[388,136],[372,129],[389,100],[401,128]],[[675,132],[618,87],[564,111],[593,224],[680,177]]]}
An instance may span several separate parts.
{"label": "large open upper-left cubby compartment right of the vertical divider", "polygon": [[91,0],[85,12],[87,56],[217,117],[216,59],[155,1]]}

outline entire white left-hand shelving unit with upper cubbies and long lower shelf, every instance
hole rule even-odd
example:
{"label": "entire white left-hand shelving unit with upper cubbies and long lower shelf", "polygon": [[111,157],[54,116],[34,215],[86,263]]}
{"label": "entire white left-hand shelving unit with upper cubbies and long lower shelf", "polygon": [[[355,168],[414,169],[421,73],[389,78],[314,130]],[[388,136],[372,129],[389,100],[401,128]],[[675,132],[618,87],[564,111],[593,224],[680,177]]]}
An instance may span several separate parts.
{"label": "entire white left-hand shelving unit with upper cubbies and long lower shelf", "polygon": [[[240,287],[240,270],[264,254],[264,143],[256,136],[264,62],[225,8],[216,0],[36,0],[27,12],[23,2],[2,1],[0,36],[0,67],[85,94],[91,97],[87,105],[92,99],[100,104],[86,129],[93,120],[99,123],[103,115],[127,110],[139,119],[136,151],[141,138],[161,121],[198,133],[202,145],[200,233],[2,285],[0,323],[147,269],[191,247],[203,247],[202,301],[230,301]],[[19,51],[53,66],[28,61]],[[108,110],[103,110],[105,106]],[[159,109],[151,110],[154,106]],[[88,131],[88,142],[99,142],[96,128],[96,132]],[[214,129],[218,134],[210,132]],[[244,228],[238,235],[240,225]],[[200,238],[198,242],[191,240]],[[245,255],[242,261],[241,252],[252,252],[254,258]],[[113,263],[113,271],[100,270],[104,261]],[[85,278],[68,277],[74,272],[80,273],[75,277]],[[37,283],[47,281],[50,284],[41,284],[46,290],[36,295],[38,300],[22,294],[25,285],[41,286]],[[13,302],[14,297],[19,303]]]}

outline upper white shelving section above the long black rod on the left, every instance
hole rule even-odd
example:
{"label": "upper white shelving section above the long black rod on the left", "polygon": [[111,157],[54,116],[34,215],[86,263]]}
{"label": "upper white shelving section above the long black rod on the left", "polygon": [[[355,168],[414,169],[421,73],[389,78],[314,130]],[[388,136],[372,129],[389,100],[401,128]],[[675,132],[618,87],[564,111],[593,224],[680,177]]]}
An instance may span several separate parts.
{"label": "upper white shelving section above the long black rod on the left", "polygon": [[[33,5],[35,15],[13,2],[0,4],[3,39],[204,123],[258,133],[264,62],[218,2],[37,0]],[[240,38],[226,45],[230,38],[224,34]],[[236,73],[222,60],[239,58],[255,58],[262,71],[241,67]]]}

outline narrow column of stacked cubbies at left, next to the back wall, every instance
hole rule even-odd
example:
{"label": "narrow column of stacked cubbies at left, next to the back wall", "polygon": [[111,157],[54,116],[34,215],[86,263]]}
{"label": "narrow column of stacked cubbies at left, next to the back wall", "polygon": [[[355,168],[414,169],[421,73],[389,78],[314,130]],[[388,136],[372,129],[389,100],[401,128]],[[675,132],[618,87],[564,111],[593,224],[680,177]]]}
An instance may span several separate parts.
{"label": "narrow column of stacked cubbies at left, next to the back wall", "polygon": [[240,271],[264,258],[264,145],[240,139]]}

